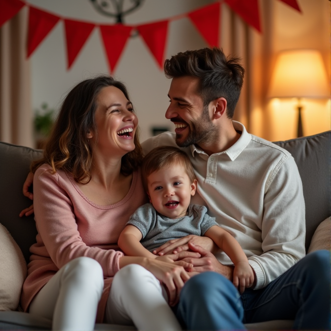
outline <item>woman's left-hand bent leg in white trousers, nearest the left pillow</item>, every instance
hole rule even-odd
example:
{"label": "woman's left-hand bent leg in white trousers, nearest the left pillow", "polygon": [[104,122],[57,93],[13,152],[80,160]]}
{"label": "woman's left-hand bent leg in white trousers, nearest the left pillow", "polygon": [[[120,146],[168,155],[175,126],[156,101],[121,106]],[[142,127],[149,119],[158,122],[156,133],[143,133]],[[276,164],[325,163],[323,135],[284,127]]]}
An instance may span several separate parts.
{"label": "woman's left-hand bent leg in white trousers, nearest the left pillow", "polygon": [[53,320],[53,330],[94,330],[103,291],[100,264],[78,257],[63,266],[39,291],[29,313]]}

